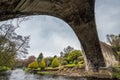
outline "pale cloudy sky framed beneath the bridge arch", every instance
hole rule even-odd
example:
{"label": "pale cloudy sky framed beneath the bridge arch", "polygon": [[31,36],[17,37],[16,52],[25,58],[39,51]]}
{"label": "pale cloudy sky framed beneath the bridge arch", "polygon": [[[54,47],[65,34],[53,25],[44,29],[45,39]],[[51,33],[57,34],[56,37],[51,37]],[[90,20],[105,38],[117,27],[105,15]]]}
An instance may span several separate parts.
{"label": "pale cloudy sky framed beneath the bridge arch", "polygon": [[21,24],[16,31],[21,35],[31,35],[29,55],[58,55],[68,45],[80,49],[77,36],[64,21],[51,16],[33,16]]}

